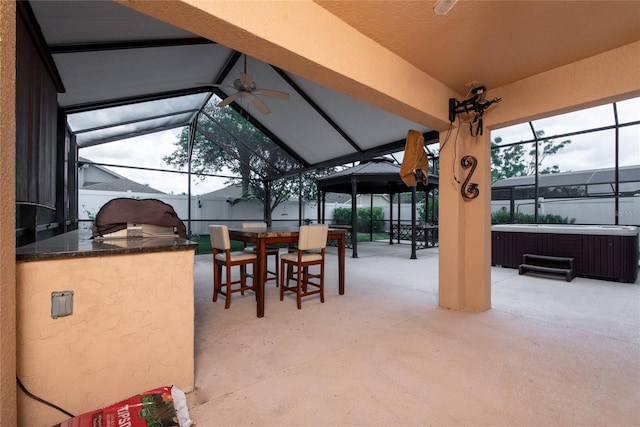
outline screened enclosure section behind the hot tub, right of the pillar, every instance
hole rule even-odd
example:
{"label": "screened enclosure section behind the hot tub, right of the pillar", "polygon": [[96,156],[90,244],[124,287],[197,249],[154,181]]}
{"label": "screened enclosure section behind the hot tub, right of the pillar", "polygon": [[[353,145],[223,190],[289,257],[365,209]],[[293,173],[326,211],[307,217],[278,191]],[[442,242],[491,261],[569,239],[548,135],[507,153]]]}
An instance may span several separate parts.
{"label": "screened enclosure section behind the hot tub, right of the pillar", "polygon": [[640,100],[492,131],[492,222],[640,225]]}

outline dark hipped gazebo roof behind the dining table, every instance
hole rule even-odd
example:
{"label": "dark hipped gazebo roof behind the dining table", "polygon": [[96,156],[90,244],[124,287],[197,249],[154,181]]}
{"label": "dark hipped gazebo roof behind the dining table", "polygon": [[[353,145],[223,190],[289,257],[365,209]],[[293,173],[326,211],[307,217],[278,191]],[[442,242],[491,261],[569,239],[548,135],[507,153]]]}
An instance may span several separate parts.
{"label": "dark hipped gazebo roof behind the dining table", "polygon": [[[411,191],[400,178],[400,166],[388,159],[373,159],[316,180],[319,191],[351,194],[352,182],[358,194],[396,194]],[[429,174],[427,185],[418,184],[417,191],[430,192],[438,188],[438,176]]]}

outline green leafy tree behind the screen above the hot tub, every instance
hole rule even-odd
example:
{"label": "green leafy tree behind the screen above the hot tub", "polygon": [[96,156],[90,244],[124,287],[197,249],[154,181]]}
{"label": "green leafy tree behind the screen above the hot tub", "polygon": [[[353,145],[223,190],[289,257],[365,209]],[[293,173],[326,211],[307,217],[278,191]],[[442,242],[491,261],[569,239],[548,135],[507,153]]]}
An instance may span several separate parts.
{"label": "green leafy tree behind the screen above the hot tub", "polygon": [[[571,140],[555,142],[553,139],[544,137],[544,130],[536,131],[538,138],[538,173],[558,173],[560,167],[558,165],[542,167],[542,162],[551,155],[557,154],[567,145],[571,144]],[[531,144],[531,150],[525,153],[524,144],[516,144],[508,147],[499,147],[502,142],[501,137],[496,137],[491,142],[491,183],[503,178],[511,178],[514,176],[530,176],[536,173],[536,143]]]}

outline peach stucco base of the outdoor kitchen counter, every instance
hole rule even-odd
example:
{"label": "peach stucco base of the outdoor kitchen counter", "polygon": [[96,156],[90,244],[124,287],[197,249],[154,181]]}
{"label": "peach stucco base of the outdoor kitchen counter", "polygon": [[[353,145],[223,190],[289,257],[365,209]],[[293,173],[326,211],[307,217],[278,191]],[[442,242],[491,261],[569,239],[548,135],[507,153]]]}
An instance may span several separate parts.
{"label": "peach stucco base of the outdoor kitchen counter", "polygon": [[[193,268],[193,249],[18,262],[22,383],[74,414],[163,385],[191,391]],[[51,318],[53,291],[74,291],[72,315]],[[25,427],[65,419],[22,393],[18,415]]]}

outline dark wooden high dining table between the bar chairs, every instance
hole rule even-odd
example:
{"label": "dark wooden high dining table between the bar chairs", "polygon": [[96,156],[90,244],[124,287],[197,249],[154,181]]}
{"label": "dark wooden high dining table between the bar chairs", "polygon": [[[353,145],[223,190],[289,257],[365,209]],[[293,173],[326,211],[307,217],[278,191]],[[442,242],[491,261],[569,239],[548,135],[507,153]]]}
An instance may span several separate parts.
{"label": "dark wooden high dining table between the bar chairs", "polygon": [[[329,228],[327,241],[338,243],[338,293],[344,295],[345,229]],[[299,227],[268,227],[262,229],[229,229],[229,238],[256,245],[257,271],[253,275],[257,300],[257,315],[264,317],[264,285],[267,268],[267,245],[298,243]],[[282,274],[282,272],[280,272]]]}

